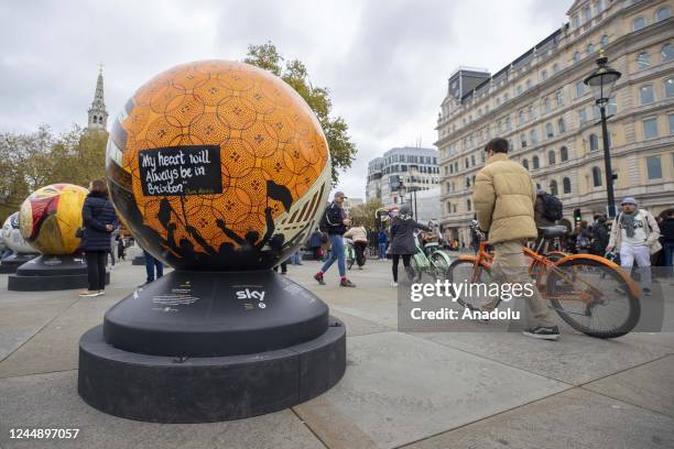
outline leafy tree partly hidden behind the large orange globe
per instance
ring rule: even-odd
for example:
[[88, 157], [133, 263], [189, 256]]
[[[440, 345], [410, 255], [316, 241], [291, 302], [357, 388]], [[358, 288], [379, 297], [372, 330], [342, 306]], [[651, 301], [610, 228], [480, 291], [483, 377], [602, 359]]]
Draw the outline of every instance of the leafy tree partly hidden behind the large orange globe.
[[357, 149], [350, 140], [349, 127], [344, 119], [330, 116], [333, 102], [329, 89], [314, 87], [309, 81], [306, 66], [300, 59], [287, 61], [285, 66], [282, 66], [284, 58], [271, 42], [262, 45], [250, 45], [243, 62], [281, 77], [312, 108], [328, 143], [333, 164], [333, 185], [336, 185], [339, 179], [339, 171], [351, 166]]

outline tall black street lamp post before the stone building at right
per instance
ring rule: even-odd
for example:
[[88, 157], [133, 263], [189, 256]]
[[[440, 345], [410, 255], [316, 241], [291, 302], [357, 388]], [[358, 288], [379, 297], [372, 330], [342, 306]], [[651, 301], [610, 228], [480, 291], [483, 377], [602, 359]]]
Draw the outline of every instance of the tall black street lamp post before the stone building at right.
[[607, 215], [616, 217], [616, 198], [613, 196], [613, 171], [611, 168], [611, 153], [609, 149], [608, 128], [606, 125], [606, 106], [611, 98], [611, 91], [616, 81], [620, 78], [620, 72], [610, 67], [604, 51], [599, 53], [597, 68], [585, 78], [584, 83], [593, 89], [595, 102], [601, 113], [601, 139], [604, 141], [604, 164], [606, 171]]

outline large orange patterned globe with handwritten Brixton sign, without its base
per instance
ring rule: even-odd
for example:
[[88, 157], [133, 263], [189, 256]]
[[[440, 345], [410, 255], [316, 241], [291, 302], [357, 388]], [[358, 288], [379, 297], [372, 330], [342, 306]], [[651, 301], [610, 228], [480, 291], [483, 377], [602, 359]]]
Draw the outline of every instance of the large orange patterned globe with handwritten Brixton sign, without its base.
[[141, 247], [182, 270], [282, 262], [315, 228], [330, 173], [302, 97], [237, 62], [160, 74], [127, 102], [108, 140], [118, 212]]

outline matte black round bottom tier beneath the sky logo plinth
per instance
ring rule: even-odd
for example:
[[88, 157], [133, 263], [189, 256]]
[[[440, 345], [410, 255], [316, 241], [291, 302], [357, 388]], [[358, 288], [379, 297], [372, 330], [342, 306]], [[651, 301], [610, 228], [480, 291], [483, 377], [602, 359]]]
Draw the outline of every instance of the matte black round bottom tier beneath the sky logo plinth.
[[213, 423], [278, 412], [333, 387], [346, 369], [346, 329], [336, 318], [311, 341], [275, 351], [172, 358], [122, 351], [102, 326], [79, 340], [77, 388], [90, 406], [151, 423]]

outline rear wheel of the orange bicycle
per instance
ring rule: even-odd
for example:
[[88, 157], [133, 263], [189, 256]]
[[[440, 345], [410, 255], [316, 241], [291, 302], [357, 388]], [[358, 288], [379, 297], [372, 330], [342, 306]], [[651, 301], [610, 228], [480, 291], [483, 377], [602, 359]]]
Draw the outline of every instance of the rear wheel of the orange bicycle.
[[639, 322], [641, 305], [617, 269], [579, 258], [551, 270], [545, 297], [574, 329], [597, 338], [621, 337]]

